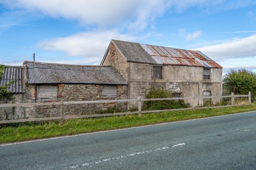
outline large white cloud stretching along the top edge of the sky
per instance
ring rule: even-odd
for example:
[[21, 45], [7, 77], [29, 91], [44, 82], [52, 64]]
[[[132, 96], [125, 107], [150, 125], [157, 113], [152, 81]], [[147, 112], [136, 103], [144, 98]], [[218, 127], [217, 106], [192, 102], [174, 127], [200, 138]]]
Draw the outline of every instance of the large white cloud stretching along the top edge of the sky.
[[9, 0], [9, 8], [42, 12], [50, 17], [79, 20], [99, 27], [126, 25], [141, 30], [169, 7], [168, 0]]

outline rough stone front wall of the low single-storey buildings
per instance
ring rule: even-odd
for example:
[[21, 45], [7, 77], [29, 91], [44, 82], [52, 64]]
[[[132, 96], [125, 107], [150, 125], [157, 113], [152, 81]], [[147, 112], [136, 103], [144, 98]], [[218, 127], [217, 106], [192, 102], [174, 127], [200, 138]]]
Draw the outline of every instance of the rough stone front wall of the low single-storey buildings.
[[[103, 85], [58, 85], [58, 98], [37, 100], [37, 85], [26, 85], [25, 93], [15, 94], [13, 100], [1, 100], [0, 103], [21, 102], [60, 102], [63, 101], [95, 101], [127, 99], [127, 85], [117, 85], [116, 98], [102, 96]], [[69, 104], [62, 106], [63, 115], [96, 114], [101, 110], [118, 106], [126, 109], [127, 103]], [[40, 105], [31, 107], [5, 107], [0, 109], [0, 120], [45, 118], [60, 116], [60, 105]]]

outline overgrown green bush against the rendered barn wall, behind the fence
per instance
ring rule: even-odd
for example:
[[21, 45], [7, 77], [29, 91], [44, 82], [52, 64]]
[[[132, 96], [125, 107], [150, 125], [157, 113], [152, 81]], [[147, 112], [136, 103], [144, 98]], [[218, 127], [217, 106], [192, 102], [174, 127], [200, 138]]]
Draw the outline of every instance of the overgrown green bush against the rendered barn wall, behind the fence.
[[[173, 94], [169, 90], [163, 88], [150, 88], [146, 91], [146, 99], [150, 98], [172, 98]], [[162, 109], [178, 109], [189, 107], [188, 103], [183, 100], [168, 100], [168, 101], [145, 101], [143, 110], [162, 110]]]

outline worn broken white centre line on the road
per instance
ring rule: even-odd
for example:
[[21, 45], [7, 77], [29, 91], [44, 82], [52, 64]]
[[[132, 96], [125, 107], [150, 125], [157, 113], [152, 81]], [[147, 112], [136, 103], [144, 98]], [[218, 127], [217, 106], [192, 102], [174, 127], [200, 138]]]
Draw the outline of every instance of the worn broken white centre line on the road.
[[[172, 147], [181, 146], [181, 145], [185, 145], [185, 144], [184, 144], [184, 143], [180, 143], [180, 144], [177, 144], [177, 145], [173, 145]], [[74, 166], [71, 166], [71, 167], [69, 167], [69, 168], [62, 169], [62, 170], [76, 169], [76, 168], [79, 168], [79, 167], [87, 167], [87, 166], [90, 166], [90, 167], [91, 167], [92, 165], [99, 164], [99, 163], [103, 163], [103, 162], [108, 162], [108, 161], [111, 161], [111, 160], [117, 160], [117, 159], [126, 158], [126, 157], [130, 157], [130, 156], [135, 156], [135, 155], [139, 155], [139, 154], [151, 153], [151, 152], [166, 150], [166, 149], [169, 149], [169, 148], [170, 148], [170, 147], [165, 146], [165, 147], [157, 148], [157, 149], [153, 149], [153, 150], [148, 150], [148, 151], [143, 151], [143, 152], [138, 152], [138, 153], [130, 153], [130, 154], [127, 154], [127, 155], [122, 155], [122, 156], [118, 156], [118, 157], [107, 158], [107, 159], [98, 160], [98, 161], [94, 161], [94, 162], [90, 162], [90, 163], [84, 163], [84, 164], [81, 164], [81, 165], [74, 165]]]

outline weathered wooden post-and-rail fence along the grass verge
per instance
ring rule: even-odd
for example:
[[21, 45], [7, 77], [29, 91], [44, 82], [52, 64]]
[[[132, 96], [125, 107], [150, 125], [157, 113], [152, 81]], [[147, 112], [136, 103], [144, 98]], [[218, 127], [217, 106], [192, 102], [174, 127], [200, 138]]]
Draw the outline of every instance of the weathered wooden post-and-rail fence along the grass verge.
[[[248, 97], [248, 104], [235, 104], [235, 98], [238, 97]], [[196, 107], [196, 99], [214, 99], [214, 98], [231, 98], [230, 105], [220, 105], [220, 106], [207, 106], [207, 107]], [[179, 109], [164, 109], [164, 110], [142, 110], [142, 102], [144, 101], [165, 101], [165, 100], [184, 100], [184, 99], [192, 99], [193, 104], [192, 107], [189, 108], [179, 108]], [[91, 103], [110, 103], [110, 102], [138, 102], [138, 111], [134, 112], [121, 112], [121, 113], [106, 113], [106, 114], [93, 114], [93, 115], [79, 115], [79, 116], [63, 116], [62, 115], [62, 106], [68, 104], [91, 104]], [[248, 95], [234, 95], [232, 93], [229, 96], [209, 96], [209, 97], [180, 97], [180, 98], [156, 98], [156, 99], [142, 99], [138, 97], [138, 99], [127, 99], [127, 100], [109, 100], [109, 101], [75, 101], [75, 102], [38, 102], [38, 103], [13, 103], [13, 104], [0, 104], [0, 107], [31, 107], [31, 106], [39, 106], [39, 105], [60, 105], [60, 116], [58, 117], [48, 117], [48, 118], [31, 118], [31, 119], [14, 119], [14, 120], [1, 120], [0, 124], [3, 123], [18, 123], [18, 122], [28, 122], [28, 121], [43, 121], [43, 120], [62, 120], [64, 119], [76, 119], [76, 118], [93, 118], [93, 117], [106, 117], [106, 116], [118, 116], [118, 115], [131, 115], [138, 114], [141, 116], [142, 113], [157, 113], [157, 112], [168, 112], [168, 111], [178, 111], [178, 110], [193, 110], [193, 109], [207, 109], [207, 108], [220, 108], [220, 107], [231, 107], [231, 106], [241, 106], [241, 105], [251, 105], [251, 92]]]

